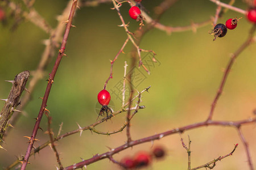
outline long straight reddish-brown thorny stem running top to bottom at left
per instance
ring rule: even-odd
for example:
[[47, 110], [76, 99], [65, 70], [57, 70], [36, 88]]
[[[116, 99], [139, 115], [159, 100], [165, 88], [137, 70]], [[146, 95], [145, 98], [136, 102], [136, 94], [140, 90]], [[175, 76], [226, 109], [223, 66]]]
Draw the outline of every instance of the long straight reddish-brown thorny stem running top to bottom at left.
[[42, 105], [41, 105], [38, 117], [36, 118], [36, 123], [35, 123], [34, 129], [32, 131], [32, 135], [31, 135], [31, 138], [30, 138], [30, 141], [29, 141], [29, 144], [28, 144], [26, 155], [25, 155], [24, 160], [22, 162], [21, 170], [26, 169], [26, 166], [27, 166], [27, 163], [28, 163], [28, 158], [30, 156], [32, 146], [35, 142], [35, 137], [36, 137], [36, 133], [37, 133], [38, 128], [39, 128], [40, 121], [43, 117], [44, 111], [46, 110], [47, 100], [48, 100], [49, 92], [51, 91], [51, 87], [52, 87], [52, 84], [53, 84], [53, 79], [56, 75], [56, 72], [57, 72], [57, 69], [59, 67], [61, 58], [64, 56], [65, 46], [67, 44], [69, 31], [72, 27], [72, 20], [73, 20], [74, 14], [75, 14], [76, 6], [77, 6], [77, 0], [73, 0], [71, 12], [70, 12], [70, 15], [69, 15], [69, 18], [68, 18], [67, 27], [65, 29], [65, 33], [64, 33], [64, 37], [63, 37], [63, 42], [61, 44], [59, 54], [58, 54], [58, 57], [56, 59], [55, 65], [53, 66], [52, 72], [51, 72], [51, 74], [49, 74], [49, 79], [48, 79], [46, 92], [45, 92], [44, 97], [43, 97], [43, 101], [42, 101]]

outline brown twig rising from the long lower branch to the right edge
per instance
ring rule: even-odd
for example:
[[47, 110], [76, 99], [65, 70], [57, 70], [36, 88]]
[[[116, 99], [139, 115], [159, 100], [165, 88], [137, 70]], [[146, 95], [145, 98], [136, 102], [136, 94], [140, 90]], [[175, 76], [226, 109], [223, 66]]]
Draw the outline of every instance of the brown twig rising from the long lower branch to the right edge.
[[224, 75], [223, 75], [223, 78], [221, 80], [221, 83], [220, 83], [220, 87], [218, 88], [218, 91], [217, 91], [217, 94], [216, 96], [214, 97], [214, 100], [212, 102], [212, 106], [210, 108], [210, 113], [209, 113], [209, 116], [207, 118], [207, 121], [210, 121], [212, 120], [212, 116], [213, 116], [213, 112], [214, 112], [214, 109], [216, 107], [216, 104], [217, 104], [217, 101], [218, 101], [218, 98], [220, 97], [220, 95], [222, 94], [222, 91], [223, 91], [223, 88], [225, 86], [225, 82], [228, 78], [228, 75], [229, 75], [229, 72], [230, 72], [230, 69], [231, 67], [233, 66], [233, 63], [234, 61], [236, 60], [236, 58], [238, 57], [238, 55], [243, 51], [245, 50], [245, 48], [247, 46], [249, 46], [251, 44], [251, 42], [253, 42], [253, 33], [255, 32], [255, 29], [256, 29], [256, 25], [254, 24], [253, 27], [251, 28], [250, 32], [249, 32], [249, 36], [247, 38], [247, 40], [245, 42], [243, 42], [243, 44], [240, 46], [240, 48], [238, 48], [236, 50], [236, 52], [234, 52], [229, 60], [229, 63], [228, 63], [228, 66], [226, 66], [226, 70], [224, 71]]

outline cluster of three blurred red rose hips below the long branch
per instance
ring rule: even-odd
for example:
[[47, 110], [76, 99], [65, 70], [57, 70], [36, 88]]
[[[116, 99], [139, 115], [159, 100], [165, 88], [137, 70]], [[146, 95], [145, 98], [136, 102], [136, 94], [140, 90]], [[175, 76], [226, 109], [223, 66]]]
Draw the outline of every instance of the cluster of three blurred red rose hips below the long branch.
[[163, 147], [155, 147], [152, 153], [148, 153], [146, 151], [140, 151], [138, 152], [134, 158], [131, 158], [129, 156], [123, 158], [121, 160], [122, 167], [125, 169], [137, 169], [146, 167], [152, 162], [152, 158], [163, 158], [165, 155], [165, 151]]

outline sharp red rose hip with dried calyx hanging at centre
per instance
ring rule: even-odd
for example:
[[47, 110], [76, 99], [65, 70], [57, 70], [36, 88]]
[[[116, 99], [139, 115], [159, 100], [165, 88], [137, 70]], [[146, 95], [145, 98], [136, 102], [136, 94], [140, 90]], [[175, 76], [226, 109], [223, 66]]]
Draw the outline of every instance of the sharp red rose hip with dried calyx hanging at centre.
[[102, 108], [100, 113], [98, 114], [98, 117], [104, 114], [104, 112], [106, 112], [107, 116], [109, 111], [112, 113], [111, 109], [108, 107], [110, 99], [111, 99], [110, 94], [105, 89], [98, 93], [98, 103], [102, 105]]

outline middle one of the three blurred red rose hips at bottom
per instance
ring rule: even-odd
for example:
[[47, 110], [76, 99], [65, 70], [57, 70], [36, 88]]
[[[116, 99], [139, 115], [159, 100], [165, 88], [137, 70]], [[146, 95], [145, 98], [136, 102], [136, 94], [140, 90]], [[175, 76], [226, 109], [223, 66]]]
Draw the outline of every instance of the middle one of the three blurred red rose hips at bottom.
[[151, 162], [151, 155], [147, 152], [138, 152], [137, 155], [135, 155], [134, 163], [135, 167], [146, 167]]

